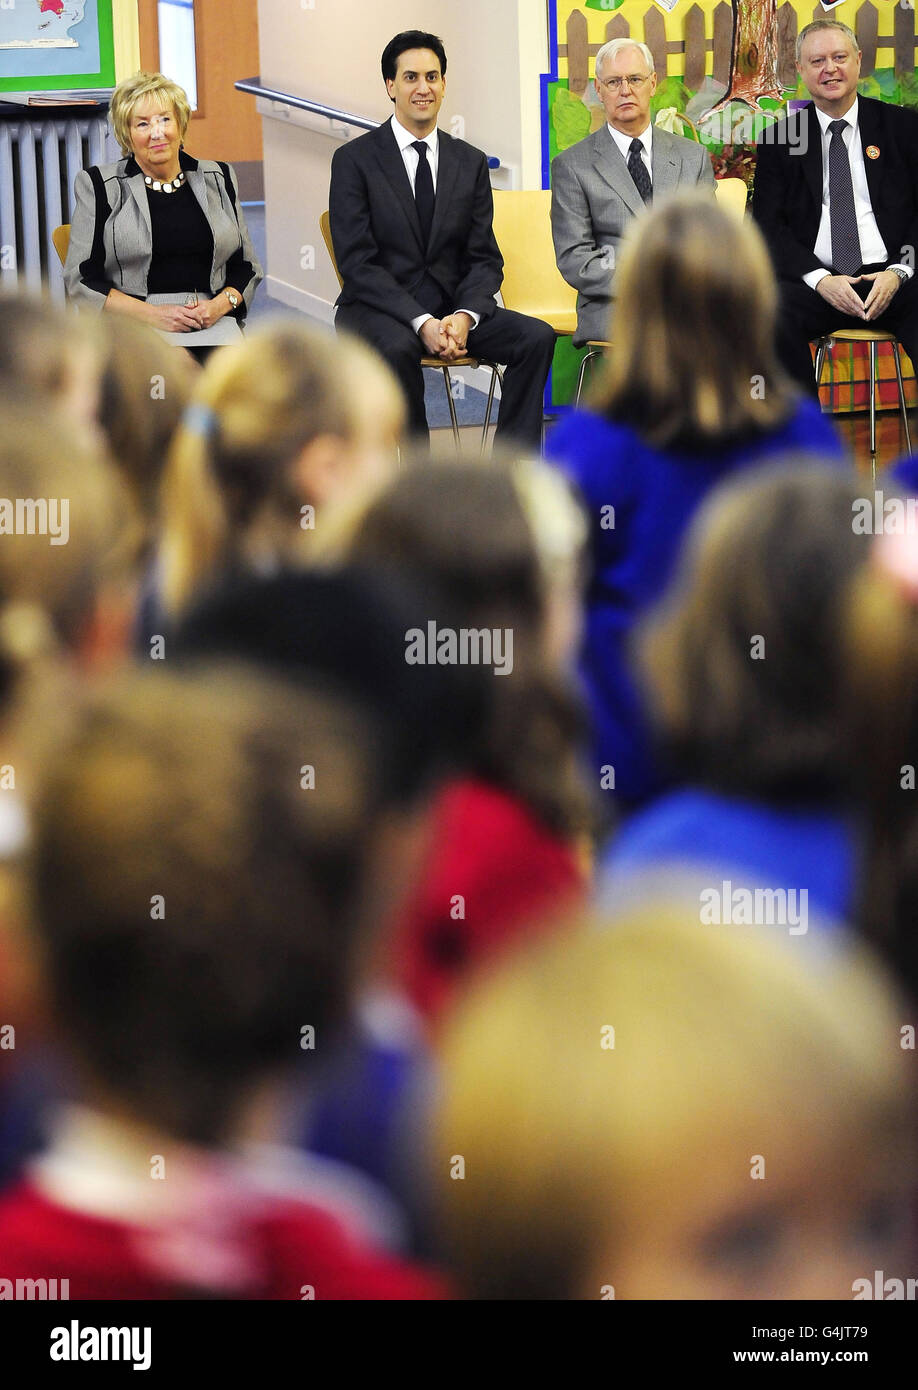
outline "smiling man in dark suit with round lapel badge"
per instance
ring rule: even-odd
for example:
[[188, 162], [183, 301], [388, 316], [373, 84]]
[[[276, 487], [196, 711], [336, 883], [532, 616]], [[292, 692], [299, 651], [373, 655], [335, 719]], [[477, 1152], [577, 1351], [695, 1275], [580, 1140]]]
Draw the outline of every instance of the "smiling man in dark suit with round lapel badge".
[[858, 97], [861, 53], [836, 19], [800, 31], [797, 71], [812, 104], [758, 142], [752, 213], [779, 279], [779, 357], [814, 393], [810, 342], [835, 328], [918, 353], [918, 115]]

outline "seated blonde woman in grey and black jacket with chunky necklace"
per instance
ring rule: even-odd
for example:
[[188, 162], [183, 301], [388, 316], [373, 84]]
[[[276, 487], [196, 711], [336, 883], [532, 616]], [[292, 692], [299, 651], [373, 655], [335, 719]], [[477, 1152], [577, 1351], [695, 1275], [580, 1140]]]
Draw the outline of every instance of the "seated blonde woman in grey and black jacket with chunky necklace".
[[124, 158], [76, 175], [64, 281], [81, 307], [195, 349], [238, 335], [263, 272], [232, 168], [185, 153], [189, 117], [160, 72], [118, 83], [110, 120]]

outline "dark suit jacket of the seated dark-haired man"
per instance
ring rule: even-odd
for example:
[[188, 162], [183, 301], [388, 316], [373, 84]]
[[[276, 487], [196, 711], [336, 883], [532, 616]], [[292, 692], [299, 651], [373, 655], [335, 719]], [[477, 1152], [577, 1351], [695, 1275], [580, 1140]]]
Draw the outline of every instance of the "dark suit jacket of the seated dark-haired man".
[[389, 121], [335, 150], [328, 195], [339, 304], [369, 304], [410, 324], [431, 313], [416, 296], [437, 282], [451, 309], [494, 310], [504, 260], [494, 239], [488, 164], [474, 146], [440, 131], [437, 202], [421, 245], [414, 195]]

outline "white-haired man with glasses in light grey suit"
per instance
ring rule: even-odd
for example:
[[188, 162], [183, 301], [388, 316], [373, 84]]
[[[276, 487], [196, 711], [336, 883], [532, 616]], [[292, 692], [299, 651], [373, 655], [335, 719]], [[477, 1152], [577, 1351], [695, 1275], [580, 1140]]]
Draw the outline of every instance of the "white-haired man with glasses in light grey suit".
[[676, 189], [709, 188], [704, 145], [651, 125], [654, 57], [644, 43], [612, 39], [597, 53], [595, 90], [606, 124], [552, 160], [551, 229], [558, 270], [577, 291], [574, 346], [609, 332], [612, 277], [630, 220]]

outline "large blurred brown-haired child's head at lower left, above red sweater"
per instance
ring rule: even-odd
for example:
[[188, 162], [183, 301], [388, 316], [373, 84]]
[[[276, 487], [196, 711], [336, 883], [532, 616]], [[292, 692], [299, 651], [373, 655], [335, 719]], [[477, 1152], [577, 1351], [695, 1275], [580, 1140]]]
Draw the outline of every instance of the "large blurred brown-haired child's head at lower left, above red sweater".
[[209, 667], [88, 702], [39, 798], [33, 878], [51, 1016], [90, 1099], [218, 1144], [305, 1029], [328, 1056], [378, 799], [342, 701]]

